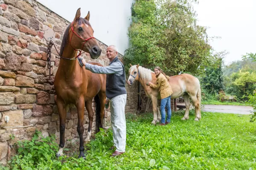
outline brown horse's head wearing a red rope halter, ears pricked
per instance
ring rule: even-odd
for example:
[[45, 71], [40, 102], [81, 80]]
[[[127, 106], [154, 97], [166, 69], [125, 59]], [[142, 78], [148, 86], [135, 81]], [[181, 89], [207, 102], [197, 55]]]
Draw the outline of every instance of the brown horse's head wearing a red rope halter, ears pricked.
[[[89, 23], [90, 12], [85, 18], [80, 17], [80, 8], [76, 11], [76, 17], [71, 23], [69, 30], [70, 45], [75, 49], [80, 49], [90, 54], [92, 59], [97, 59], [102, 49], [93, 37], [93, 28]], [[72, 36], [72, 37], [71, 37]]]

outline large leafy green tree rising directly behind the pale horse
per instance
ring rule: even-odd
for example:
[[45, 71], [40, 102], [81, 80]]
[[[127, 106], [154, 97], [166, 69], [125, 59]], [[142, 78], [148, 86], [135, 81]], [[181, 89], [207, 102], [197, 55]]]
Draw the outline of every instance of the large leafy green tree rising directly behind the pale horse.
[[196, 0], [137, 0], [128, 29], [131, 48], [125, 62], [169, 74], [199, 74], [212, 64], [206, 28], [196, 25]]

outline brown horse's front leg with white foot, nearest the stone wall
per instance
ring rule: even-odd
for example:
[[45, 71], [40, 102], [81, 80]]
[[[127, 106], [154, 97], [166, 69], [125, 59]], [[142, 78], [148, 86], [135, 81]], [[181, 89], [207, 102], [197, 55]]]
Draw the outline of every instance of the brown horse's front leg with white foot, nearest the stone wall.
[[67, 116], [67, 105], [64, 104], [64, 101], [57, 97], [56, 99], [58, 113], [60, 116], [60, 145], [58, 153], [56, 153], [57, 158], [63, 155], [63, 150], [65, 147], [65, 125], [66, 125], [66, 116]]

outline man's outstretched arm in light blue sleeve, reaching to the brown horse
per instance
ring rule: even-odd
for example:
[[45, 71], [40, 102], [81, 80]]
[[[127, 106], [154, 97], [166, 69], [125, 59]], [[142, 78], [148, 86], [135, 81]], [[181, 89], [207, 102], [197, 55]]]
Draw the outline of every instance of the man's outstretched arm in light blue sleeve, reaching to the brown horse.
[[119, 62], [114, 62], [111, 65], [105, 67], [86, 63], [85, 69], [97, 74], [115, 74], [123, 71], [122, 65]]

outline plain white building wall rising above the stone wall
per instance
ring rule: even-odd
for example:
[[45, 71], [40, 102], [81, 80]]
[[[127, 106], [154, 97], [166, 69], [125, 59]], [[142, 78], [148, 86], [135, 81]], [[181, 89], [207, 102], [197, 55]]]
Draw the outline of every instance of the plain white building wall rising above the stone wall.
[[94, 37], [106, 45], [116, 45], [124, 54], [129, 47], [127, 36], [131, 24], [133, 0], [37, 0], [56, 14], [72, 22], [78, 8], [81, 17], [90, 11], [90, 24]]

